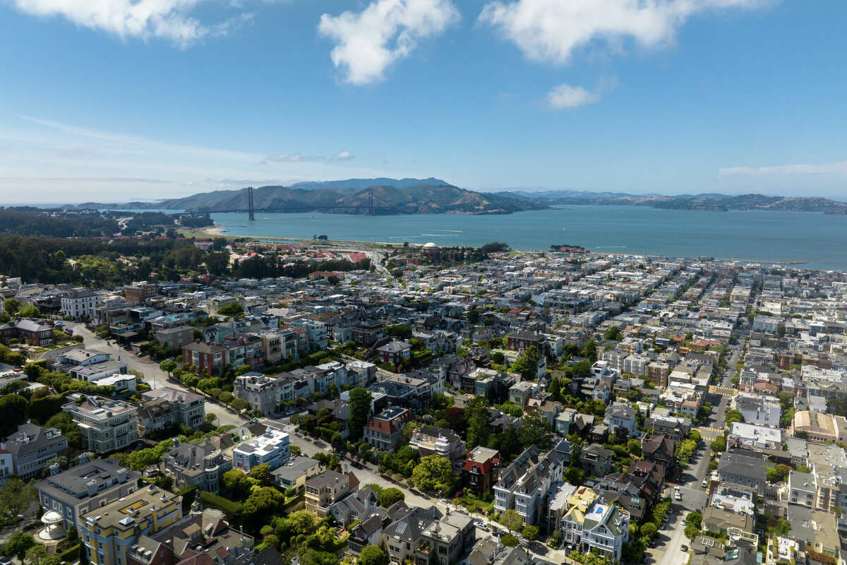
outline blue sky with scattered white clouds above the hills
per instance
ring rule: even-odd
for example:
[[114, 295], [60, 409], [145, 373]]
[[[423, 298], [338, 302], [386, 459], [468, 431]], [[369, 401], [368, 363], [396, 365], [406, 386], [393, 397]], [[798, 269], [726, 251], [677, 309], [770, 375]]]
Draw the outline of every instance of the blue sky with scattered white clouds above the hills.
[[0, 0], [0, 204], [374, 176], [847, 199], [844, 0]]

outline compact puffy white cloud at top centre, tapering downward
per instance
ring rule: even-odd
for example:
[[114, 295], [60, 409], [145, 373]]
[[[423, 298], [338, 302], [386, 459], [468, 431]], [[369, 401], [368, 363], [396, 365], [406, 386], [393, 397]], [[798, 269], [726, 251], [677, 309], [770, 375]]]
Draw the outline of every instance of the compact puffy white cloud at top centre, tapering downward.
[[318, 31], [337, 43], [330, 57], [346, 68], [346, 81], [382, 80], [390, 64], [405, 58], [418, 41], [438, 36], [461, 19], [451, 0], [374, 0], [363, 11], [323, 14]]

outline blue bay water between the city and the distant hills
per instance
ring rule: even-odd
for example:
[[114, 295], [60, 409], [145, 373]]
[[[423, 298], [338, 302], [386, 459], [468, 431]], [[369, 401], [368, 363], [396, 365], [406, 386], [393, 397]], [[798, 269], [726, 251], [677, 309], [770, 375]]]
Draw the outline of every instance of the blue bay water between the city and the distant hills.
[[584, 246], [596, 252], [702, 255], [760, 263], [805, 262], [808, 269], [847, 270], [847, 216], [811, 212], [700, 212], [639, 206], [570, 206], [504, 215], [354, 216], [329, 213], [215, 213], [227, 235], [387, 241], [402, 245], [514, 249]]

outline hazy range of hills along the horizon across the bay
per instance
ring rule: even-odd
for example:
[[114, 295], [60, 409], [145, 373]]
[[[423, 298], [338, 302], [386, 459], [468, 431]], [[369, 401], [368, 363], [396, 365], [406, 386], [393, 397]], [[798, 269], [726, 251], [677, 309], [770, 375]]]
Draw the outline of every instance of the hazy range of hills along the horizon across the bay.
[[[762, 194], [730, 196], [717, 193], [628, 194], [576, 190], [480, 192], [453, 186], [445, 180], [347, 179], [297, 182], [291, 186], [260, 186], [253, 190], [256, 210], [366, 214], [373, 194], [374, 213], [513, 213], [562, 205], [649, 206], [678, 210], [781, 210], [847, 214], [847, 203], [822, 197], [775, 197]], [[190, 197], [151, 202], [102, 204], [86, 202], [70, 208], [165, 209], [189, 212], [228, 212], [249, 208], [246, 188], [211, 191]]]

